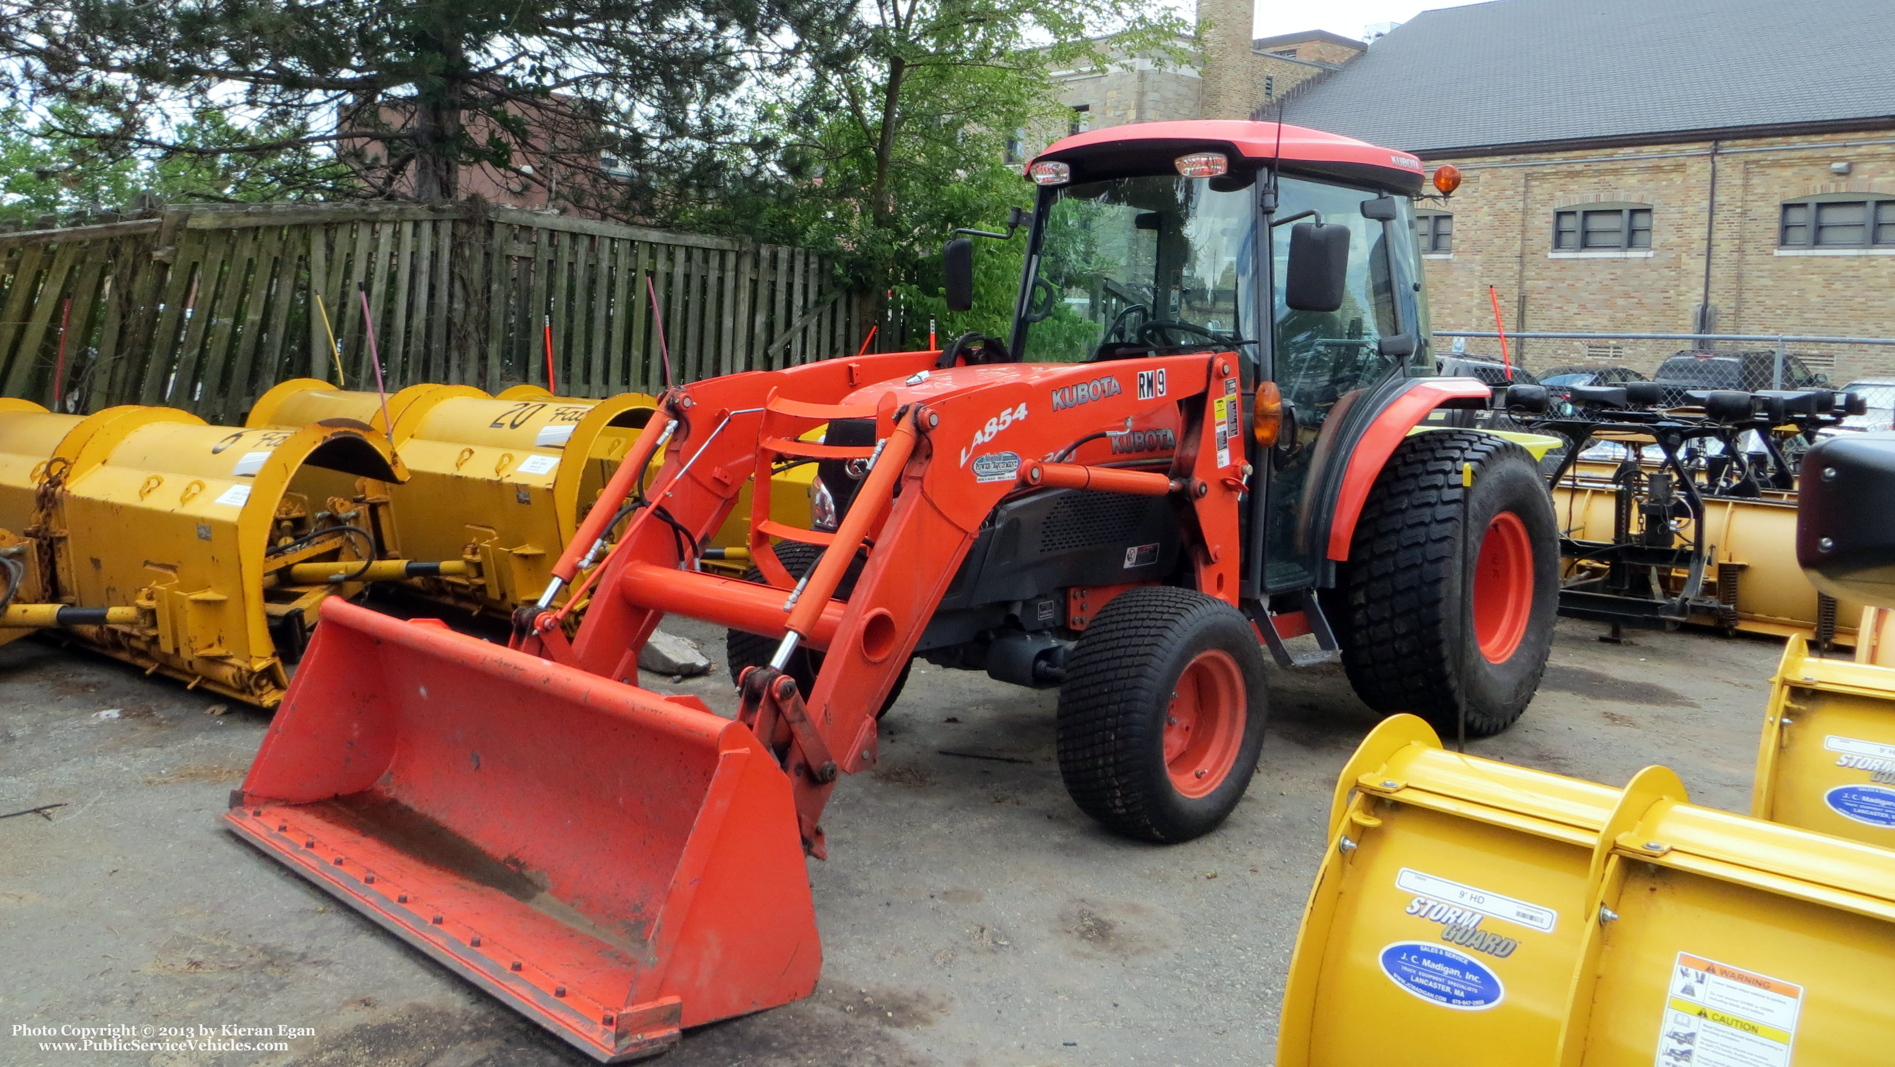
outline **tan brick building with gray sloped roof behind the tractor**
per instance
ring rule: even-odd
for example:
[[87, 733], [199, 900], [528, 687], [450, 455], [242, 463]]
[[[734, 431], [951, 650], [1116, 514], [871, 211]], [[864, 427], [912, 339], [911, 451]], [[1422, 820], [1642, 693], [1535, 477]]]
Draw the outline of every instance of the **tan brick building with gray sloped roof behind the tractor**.
[[[1895, 337], [1887, 0], [1491, 0], [1374, 47], [1253, 42], [1249, 8], [1201, 0], [1198, 114], [1281, 108], [1465, 174], [1423, 205], [1436, 328], [1491, 330], [1491, 284], [1508, 330]], [[1527, 366], [1677, 349], [1533, 341]], [[1895, 375], [1895, 349], [1795, 351]]]

